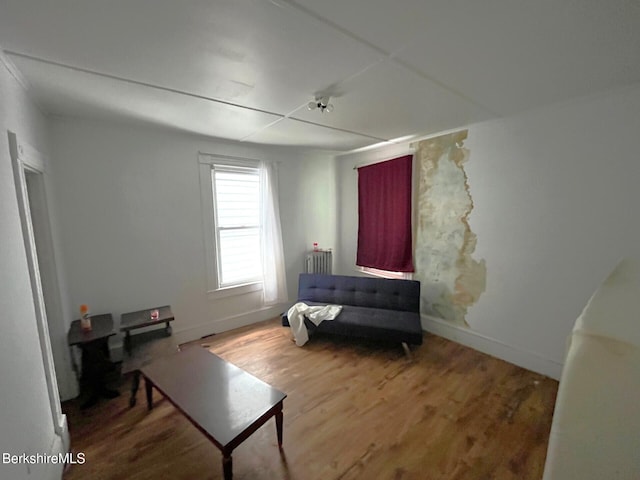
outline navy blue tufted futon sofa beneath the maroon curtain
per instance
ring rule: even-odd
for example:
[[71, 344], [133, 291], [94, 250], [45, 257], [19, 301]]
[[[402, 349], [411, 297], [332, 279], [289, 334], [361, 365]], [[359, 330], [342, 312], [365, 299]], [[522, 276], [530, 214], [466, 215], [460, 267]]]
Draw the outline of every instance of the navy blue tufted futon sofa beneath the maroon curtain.
[[[422, 344], [420, 282], [302, 273], [297, 301], [307, 305], [342, 305], [336, 319], [317, 327], [305, 319], [310, 336], [317, 331], [399, 342], [405, 348], [407, 344]], [[289, 325], [286, 312], [282, 324]]]

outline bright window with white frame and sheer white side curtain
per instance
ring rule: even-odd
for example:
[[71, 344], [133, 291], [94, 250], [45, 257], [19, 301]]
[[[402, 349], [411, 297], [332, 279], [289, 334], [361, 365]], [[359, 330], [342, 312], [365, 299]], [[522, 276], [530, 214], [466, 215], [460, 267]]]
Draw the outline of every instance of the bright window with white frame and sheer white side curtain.
[[277, 165], [205, 153], [198, 163], [207, 292], [261, 290], [265, 306], [287, 302]]

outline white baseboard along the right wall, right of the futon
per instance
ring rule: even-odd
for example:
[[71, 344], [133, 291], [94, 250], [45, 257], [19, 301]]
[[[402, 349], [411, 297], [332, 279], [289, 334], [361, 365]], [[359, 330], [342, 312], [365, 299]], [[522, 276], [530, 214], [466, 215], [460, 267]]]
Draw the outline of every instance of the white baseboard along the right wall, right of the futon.
[[474, 332], [469, 328], [454, 325], [445, 320], [421, 315], [422, 329], [461, 345], [473, 348], [479, 352], [500, 358], [519, 367], [560, 380], [562, 363], [541, 357], [527, 350], [522, 350], [495, 338]]

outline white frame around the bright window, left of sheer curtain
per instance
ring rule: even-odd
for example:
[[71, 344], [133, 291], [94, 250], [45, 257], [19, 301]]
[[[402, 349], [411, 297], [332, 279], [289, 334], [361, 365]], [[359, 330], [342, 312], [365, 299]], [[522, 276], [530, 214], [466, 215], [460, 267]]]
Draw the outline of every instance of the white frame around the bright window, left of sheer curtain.
[[242, 295], [262, 290], [262, 280], [248, 281], [239, 285], [223, 286], [220, 283], [218, 245], [219, 239], [216, 228], [216, 208], [214, 203], [213, 166], [225, 165], [237, 168], [259, 168], [260, 161], [234, 157], [230, 155], [215, 155], [200, 153], [198, 167], [200, 174], [200, 207], [202, 210], [202, 225], [205, 247], [205, 269], [207, 279], [207, 294], [210, 298], [221, 298]]

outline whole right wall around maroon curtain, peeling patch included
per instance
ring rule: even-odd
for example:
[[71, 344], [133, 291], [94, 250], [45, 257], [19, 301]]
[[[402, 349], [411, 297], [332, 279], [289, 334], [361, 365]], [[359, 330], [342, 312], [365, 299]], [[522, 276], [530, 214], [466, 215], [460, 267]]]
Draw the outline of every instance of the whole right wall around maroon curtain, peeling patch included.
[[[353, 167], [412, 153], [423, 328], [559, 379], [567, 335], [593, 291], [621, 257], [640, 254], [637, 208], [623, 208], [640, 205], [638, 112], [640, 83], [454, 130], [468, 129], [456, 135], [473, 203], [458, 183], [463, 171], [448, 158], [448, 150], [457, 150], [451, 137], [337, 157], [337, 273], [362, 275], [354, 267]], [[460, 229], [452, 233], [451, 250], [439, 238], [445, 233], [436, 218], [423, 210], [418, 225], [417, 208], [421, 176], [421, 204], [444, 213], [437, 208], [444, 199], [435, 190], [429, 197], [425, 187], [442, 190], [437, 179], [449, 168], [456, 174], [455, 196], [462, 196], [460, 209], [450, 208]], [[466, 274], [459, 276], [461, 271]]]

